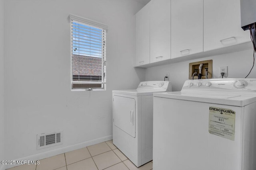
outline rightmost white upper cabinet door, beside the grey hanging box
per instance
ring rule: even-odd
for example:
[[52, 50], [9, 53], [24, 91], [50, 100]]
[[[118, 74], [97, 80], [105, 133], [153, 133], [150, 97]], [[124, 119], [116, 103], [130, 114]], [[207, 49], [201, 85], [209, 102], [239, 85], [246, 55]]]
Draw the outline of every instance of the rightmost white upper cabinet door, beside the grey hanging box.
[[204, 0], [204, 51], [250, 41], [241, 28], [240, 0]]

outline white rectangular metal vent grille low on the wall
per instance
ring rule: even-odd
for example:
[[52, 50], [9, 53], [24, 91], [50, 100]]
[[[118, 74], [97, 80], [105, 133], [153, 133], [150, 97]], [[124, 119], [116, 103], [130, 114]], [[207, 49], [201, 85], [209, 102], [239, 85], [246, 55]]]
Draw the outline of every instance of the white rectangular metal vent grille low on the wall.
[[52, 147], [62, 144], [63, 131], [57, 131], [52, 133], [42, 133], [37, 135], [37, 149], [46, 147]]

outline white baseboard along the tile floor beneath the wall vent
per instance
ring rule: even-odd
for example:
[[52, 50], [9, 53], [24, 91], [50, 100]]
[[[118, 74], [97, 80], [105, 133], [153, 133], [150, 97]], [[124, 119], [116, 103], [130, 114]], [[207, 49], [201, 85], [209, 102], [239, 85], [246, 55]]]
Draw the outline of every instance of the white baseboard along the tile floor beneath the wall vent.
[[[32, 160], [32, 161], [33, 160], [40, 160], [40, 159], [48, 158], [48, 157], [55, 156], [55, 155], [58, 155], [58, 154], [63, 154], [63, 153], [66, 153], [66, 152], [70, 152], [72, 150], [88, 147], [90, 145], [95, 145], [97, 143], [102, 143], [102, 142], [105, 142], [105, 141], [110, 141], [112, 139], [113, 139], [113, 136], [109, 135], [109, 136], [98, 138], [98, 139], [94, 139], [94, 140], [91, 140], [91, 141], [86, 141], [86, 142], [78, 143], [76, 145], [71, 145], [71, 146], [64, 147], [64, 148], [59, 148], [59, 149], [50, 150], [50, 151], [47, 151], [47, 152], [42, 152], [40, 154], [34, 154], [34, 155], [31, 155], [31, 156], [26, 156], [24, 158], [16, 159], [15, 161], [21, 161], [21, 160]], [[7, 168], [12, 168], [14, 166], [18, 166], [18, 165], [17, 164], [15, 164], [15, 165], [7, 165], [6, 167], [5, 166], [2, 166], [2, 167], [0, 166], [0, 170], [5, 170], [4, 168], [7, 169]]]

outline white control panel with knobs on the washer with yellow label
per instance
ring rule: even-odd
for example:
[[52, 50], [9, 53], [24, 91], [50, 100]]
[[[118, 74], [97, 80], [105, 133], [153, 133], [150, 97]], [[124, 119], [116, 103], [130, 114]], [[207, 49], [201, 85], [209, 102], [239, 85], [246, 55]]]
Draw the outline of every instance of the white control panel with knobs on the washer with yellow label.
[[256, 91], [256, 78], [218, 78], [186, 80], [182, 89], [187, 90], [242, 90]]

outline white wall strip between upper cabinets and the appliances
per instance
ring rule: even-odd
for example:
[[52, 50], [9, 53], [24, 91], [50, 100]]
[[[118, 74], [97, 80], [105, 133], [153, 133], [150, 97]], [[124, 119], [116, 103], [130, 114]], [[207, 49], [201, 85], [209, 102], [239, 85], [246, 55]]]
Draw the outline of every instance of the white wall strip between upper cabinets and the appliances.
[[[228, 66], [227, 78], [245, 78], [253, 64], [253, 49], [236, 53], [206, 57], [192, 61], [173, 63], [164, 66], [146, 68], [146, 81], [164, 80], [165, 72], [169, 72], [169, 80], [172, 82], [172, 91], [180, 91], [185, 80], [188, 80], [189, 63], [210, 59], [213, 60], [213, 78], [220, 78], [218, 76], [220, 66]], [[254, 66], [248, 78], [256, 78], [255, 73], [256, 66]]]

